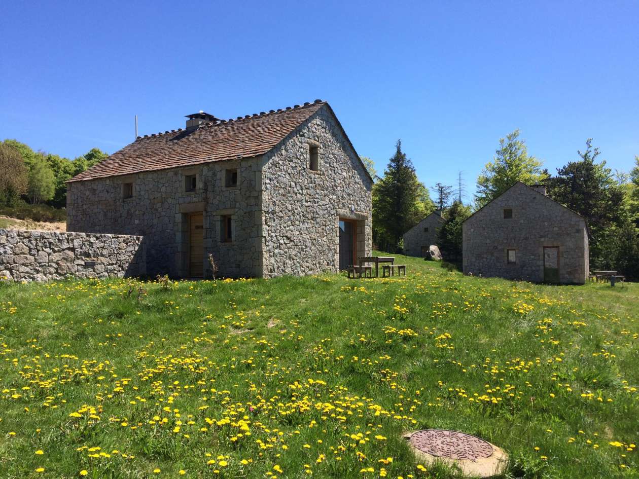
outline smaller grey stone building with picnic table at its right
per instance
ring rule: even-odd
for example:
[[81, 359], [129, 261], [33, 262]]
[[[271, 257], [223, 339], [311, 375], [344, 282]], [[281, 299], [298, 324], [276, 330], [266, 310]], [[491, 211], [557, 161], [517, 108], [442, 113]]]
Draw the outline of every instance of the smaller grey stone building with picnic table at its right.
[[583, 217], [518, 182], [463, 224], [465, 274], [584, 284], [588, 230]]

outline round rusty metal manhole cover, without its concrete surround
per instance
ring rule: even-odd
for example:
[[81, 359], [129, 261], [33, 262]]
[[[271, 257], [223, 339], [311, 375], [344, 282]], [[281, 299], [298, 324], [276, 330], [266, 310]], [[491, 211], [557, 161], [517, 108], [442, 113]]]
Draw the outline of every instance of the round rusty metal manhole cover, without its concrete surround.
[[484, 439], [455, 430], [418, 430], [411, 434], [410, 444], [421, 452], [448, 459], [475, 461], [493, 454], [493, 446]]

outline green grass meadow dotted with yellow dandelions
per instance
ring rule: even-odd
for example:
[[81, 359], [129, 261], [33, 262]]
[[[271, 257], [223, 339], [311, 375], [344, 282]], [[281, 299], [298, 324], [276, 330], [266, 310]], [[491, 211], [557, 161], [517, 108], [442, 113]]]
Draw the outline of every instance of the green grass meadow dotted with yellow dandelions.
[[639, 476], [639, 284], [405, 261], [0, 285], [0, 477], [454, 477], [401, 438], [431, 427], [501, 446], [507, 477]]

